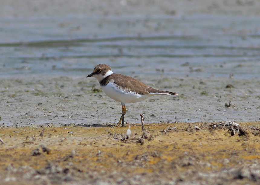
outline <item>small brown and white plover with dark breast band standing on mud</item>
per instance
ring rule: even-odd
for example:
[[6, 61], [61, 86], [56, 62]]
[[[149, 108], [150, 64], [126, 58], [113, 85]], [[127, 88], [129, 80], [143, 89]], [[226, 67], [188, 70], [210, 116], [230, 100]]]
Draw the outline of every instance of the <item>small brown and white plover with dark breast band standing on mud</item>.
[[121, 102], [122, 116], [115, 126], [125, 126], [125, 103], [141, 102], [154, 95], [178, 95], [176, 92], [161, 91], [154, 89], [145, 83], [123, 74], [113, 73], [110, 66], [102, 63], [97, 65], [88, 77], [95, 77], [107, 96], [115, 101]]

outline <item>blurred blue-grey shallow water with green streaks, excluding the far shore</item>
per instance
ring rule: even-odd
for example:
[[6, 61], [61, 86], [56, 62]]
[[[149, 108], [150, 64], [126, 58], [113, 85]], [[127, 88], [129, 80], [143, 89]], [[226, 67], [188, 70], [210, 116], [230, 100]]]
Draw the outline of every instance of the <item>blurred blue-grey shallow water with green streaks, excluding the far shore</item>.
[[[107, 63], [173, 77], [259, 77], [260, 18], [238, 16], [1, 19], [1, 76], [84, 76]], [[189, 65], [185, 65], [189, 64]], [[183, 66], [182, 66], [183, 64]], [[118, 69], [117, 69], [118, 68]]]

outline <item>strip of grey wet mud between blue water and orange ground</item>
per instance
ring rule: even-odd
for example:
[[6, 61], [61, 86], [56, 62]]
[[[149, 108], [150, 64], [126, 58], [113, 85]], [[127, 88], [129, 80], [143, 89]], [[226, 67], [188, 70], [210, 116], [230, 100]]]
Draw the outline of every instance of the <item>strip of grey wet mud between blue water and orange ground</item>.
[[[153, 96], [142, 102], [127, 103], [125, 122], [129, 124], [136, 123], [140, 113], [148, 123], [260, 119], [258, 78], [174, 78], [164, 74], [133, 77], [179, 95]], [[21, 76], [0, 81], [0, 124], [7, 126], [106, 125], [117, 123], [122, 114], [121, 104], [106, 96], [94, 78]]]

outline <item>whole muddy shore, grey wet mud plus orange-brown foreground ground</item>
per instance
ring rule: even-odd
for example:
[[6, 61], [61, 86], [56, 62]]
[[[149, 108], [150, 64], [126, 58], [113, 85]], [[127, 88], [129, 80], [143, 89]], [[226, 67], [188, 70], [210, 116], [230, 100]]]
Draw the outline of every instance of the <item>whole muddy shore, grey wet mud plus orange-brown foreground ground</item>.
[[179, 95], [127, 104], [125, 127], [96, 79], [2, 78], [2, 183], [259, 184], [257, 78], [137, 78]]

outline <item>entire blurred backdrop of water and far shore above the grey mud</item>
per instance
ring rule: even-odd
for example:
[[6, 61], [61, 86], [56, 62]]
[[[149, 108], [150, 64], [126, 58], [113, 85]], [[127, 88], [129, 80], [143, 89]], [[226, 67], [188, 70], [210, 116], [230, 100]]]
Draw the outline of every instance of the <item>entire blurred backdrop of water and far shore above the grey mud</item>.
[[257, 0], [1, 0], [2, 77], [254, 78], [259, 59]]

